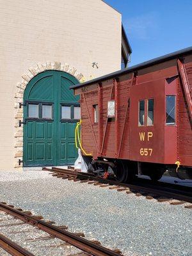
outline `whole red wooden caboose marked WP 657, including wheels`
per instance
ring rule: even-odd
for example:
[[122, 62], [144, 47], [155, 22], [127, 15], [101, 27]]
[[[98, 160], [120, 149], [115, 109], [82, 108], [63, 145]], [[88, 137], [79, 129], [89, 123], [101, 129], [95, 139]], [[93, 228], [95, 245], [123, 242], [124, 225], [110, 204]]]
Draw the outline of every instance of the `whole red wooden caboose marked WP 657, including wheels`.
[[192, 47], [71, 87], [89, 170], [192, 179]]

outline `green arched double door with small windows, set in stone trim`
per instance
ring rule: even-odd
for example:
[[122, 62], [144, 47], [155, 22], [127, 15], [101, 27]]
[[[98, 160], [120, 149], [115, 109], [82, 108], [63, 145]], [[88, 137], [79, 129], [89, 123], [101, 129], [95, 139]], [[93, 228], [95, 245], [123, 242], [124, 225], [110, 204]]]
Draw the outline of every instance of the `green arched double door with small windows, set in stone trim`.
[[69, 87], [76, 78], [45, 71], [24, 92], [24, 166], [73, 164], [77, 157], [75, 127], [80, 119], [79, 97]]

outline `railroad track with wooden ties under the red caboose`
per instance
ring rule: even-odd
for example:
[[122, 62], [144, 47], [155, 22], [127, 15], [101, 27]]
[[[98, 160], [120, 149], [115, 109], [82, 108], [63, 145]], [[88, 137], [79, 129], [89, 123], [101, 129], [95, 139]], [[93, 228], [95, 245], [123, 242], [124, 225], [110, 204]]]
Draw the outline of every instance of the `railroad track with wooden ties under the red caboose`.
[[[156, 186], [150, 184], [149, 187], [136, 184], [123, 184], [116, 180], [107, 180], [95, 177], [91, 173], [77, 172], [72, 168], [43, 168], [42, 170], [49, 171], [52, 176], [73, 180], [74, 182], [88, 182], [101, 188], [109, 187], [117, 191], [125, 191], [127, 194], [134, 193], [136, 196], [145, 196], [148, 200], [156, 199], [157, 202], [169, 202], [171, 205], [184, 204], [185, 208], [192, 209], [192, 193], [190, 191], [180, 191], [172, 185], [170, 188], [165, 186]], [[188, 204], [186, 204], [188, 203]]]

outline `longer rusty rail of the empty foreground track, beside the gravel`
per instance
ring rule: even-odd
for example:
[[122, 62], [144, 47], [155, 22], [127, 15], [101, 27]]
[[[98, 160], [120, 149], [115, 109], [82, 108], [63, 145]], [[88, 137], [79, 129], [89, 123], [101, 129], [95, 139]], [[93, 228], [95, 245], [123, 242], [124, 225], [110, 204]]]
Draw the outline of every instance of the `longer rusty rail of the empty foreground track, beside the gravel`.
[[119, 253], [113, 252], [113, 250], [109, 250], [108, 248], [100, 246], [99, 244], [88, 241], [82, 237], [77, 236], [76, 234], [68, 232], [67, 230], [63, 230], [60, 227], [56, 227], [50, 223], [47, 223], [46, 221], [38, 220], [38, 218], [35, 218], [35, 216], [26, 214], [22, 211], [19, 211], [18, 209], [14, 209], [13, 207], [6, 205], [5, 203], [0, 203], [0, 210], [7, 212], [8, 214], [14, 216], [15, 218], [18, 218], [19, 220], [24, 221], [25, 223], [34, 225], [41, 230], [44, 230], [48, 234], [57, 237], [65, 241], [66, 243], [69, 243], [72, 246], [79, 248], [80, 250], [83, 250], [84, 252], [90, 253], [95, 256], [120, 255]]

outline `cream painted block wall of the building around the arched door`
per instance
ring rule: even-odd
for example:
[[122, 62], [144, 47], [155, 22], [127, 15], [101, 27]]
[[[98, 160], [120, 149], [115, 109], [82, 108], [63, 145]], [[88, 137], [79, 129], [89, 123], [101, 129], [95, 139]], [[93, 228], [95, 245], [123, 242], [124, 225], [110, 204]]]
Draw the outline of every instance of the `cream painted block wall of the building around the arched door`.
[[120, 69], [121, 15], [100, 0], [0, 0], [0, 29], [0, 170], [12, 170], [22, 74], [54, 61], [86, 79]]

